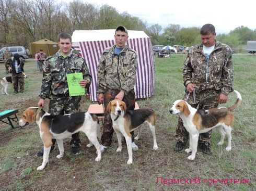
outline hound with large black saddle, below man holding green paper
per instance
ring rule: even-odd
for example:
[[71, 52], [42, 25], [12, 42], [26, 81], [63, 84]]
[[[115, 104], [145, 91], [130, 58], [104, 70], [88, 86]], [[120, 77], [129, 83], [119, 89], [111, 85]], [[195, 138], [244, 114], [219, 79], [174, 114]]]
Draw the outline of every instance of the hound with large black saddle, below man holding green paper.
[[39, 126], [44, 149], [43, 163], [37, 170], [43, 170], [49, 161], [52, 138], [57, 141], [60, 154], [56, 157], [60, 159], [64, 155], [63, 139], [80, 131], [84, 132], [90, 141], [87, 147], [91, 147], [92, 144], [96, 147], [98, 156], [95, 161], [100, 161], [100, 144], [97, 140], [97, 136], [100, 137], [100, 130], [96, 114], [78, 112], [54, 116], [41, 107], [30, 107], [22, 113], [18, 124], [22, 127], [34, 121]]

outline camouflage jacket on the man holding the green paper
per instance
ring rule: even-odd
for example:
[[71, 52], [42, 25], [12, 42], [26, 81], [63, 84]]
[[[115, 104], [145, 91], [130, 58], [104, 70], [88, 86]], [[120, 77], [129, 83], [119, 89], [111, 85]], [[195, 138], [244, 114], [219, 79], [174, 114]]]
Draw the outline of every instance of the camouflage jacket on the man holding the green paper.
[[69, 96], [67, 77], [68, 73], [82, 72], [85, 80], [88, 81], [86, 88], [91, 82], [91, 75], [88, 71], [84, 58], [71, 53], [64, 58], [60, 50], [54, 56], [48, 57], [43, 62], [43, 79], [39, 97], [51, 98], [53, 96]]

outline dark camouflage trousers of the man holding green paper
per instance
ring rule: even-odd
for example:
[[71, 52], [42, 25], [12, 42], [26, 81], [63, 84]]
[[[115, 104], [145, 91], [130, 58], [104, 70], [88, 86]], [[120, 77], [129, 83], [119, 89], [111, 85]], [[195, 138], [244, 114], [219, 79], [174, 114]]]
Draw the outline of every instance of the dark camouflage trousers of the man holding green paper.
[[[79, 112], [81, 96], [51, 96], [49, 103], [49, 113], [57, 114], [69, 114]], [[56, 139], [52, 139], [54, 145]], [[79, 138], [79, 132], [72, 135], [70, 142], [72, 147], [80, 147], [81, 141]]]

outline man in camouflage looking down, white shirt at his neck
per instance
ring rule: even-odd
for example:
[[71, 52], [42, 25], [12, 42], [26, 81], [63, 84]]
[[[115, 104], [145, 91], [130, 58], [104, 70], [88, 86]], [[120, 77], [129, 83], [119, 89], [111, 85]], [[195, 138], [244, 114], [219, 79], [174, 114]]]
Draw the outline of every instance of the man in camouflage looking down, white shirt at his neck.
[[[216, 33], [212, 24], [205, 24], [200, 34], [202, 44], [191, 48], [184, 62], [183, 83], [186, 94], [183, 99], [187, 100], [188, 97], [188, 103], [194, 108], [210, 109], [226, 103], [228, 93], [233, 91], [232, 54], [228, 45], [215, 40]], [[181, 118], [178, 119], [175, 136], [177, 144], [174, 150], [180, 151], [189, 138]], [[212, 155], [210, 138], [211, 131], [199, 136], [199, 145], [207, 155]]]

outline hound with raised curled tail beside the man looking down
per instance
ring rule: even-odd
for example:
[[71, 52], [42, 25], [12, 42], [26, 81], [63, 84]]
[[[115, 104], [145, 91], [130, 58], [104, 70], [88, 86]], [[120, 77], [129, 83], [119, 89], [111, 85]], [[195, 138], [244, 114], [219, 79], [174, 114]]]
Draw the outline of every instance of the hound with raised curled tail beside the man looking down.
[[[219, 107], [208, 110], [195, 109], [184, 100], [176, 100], [170, 108], [171, 114], [178, 114], [183, 121], [185, 129], [189, 132], [189, 148], [185, 152], [192, 154], [188, 157], [189, 160], [194, 160], [197, 151], [197, 142], [200, 133], [205, 133], [213, 128], [217, 128], [221, 138], [218, 145], [224, 142], [225, 134], [228, 137], [228, 145], [226, 151], [231, 150], [231, 130], [234, 124], [234, 114], [231, 113], [236, 107], [241, 104], [241, 94], [234, 90], [237, 95], [237, 100], [234, 105], [229, 108]], [[224, 130], [225, 129], [225, 132]]]

